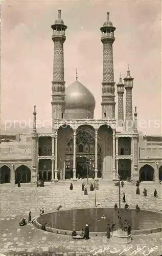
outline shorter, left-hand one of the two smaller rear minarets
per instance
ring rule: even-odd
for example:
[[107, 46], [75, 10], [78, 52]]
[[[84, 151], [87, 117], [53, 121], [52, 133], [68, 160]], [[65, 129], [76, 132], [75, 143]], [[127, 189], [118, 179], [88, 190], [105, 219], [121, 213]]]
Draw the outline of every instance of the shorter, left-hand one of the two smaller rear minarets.
[[123, 104], [124, 83], [122, 83], [121, 74], [120, 74], [119, 83], [117, 84], [117, 93], [118, 93], [118, 126], [122, 127], [124, 124], [124, 104]]

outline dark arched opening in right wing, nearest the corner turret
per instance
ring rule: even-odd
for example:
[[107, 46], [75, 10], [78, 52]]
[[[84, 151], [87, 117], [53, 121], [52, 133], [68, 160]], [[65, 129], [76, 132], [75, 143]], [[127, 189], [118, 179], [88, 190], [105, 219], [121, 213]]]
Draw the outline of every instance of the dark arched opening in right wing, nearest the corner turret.
[[145, 164], [140, 169], [140, 182], [153, 181], [153, 180], [154, 180], [154, 168], [149, 164]]

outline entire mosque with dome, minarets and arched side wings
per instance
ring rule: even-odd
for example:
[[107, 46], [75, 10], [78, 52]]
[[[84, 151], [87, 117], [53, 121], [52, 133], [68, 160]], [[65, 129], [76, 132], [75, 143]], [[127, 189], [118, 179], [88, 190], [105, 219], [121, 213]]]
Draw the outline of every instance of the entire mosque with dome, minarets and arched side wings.
[[1, 136], [1, 184], [15, 184], [15, 180], [20, 180], [35, 186], [38, 179], [79, 181], [87, 176], [116, 181], [119, 175], [127, 181], [162, 180], [162, 137], [143, 136], [138, 132], [136, 107], [132, 109], [134, 78], [129, 68], [123, 82], [121, 77], [119, 83], [114, 82], [112, 46], [116, 28], [110, 22], [109, 13], [100, 28], [103, 44], [101, 119], [95, 119], [94, 95], [79, 82], [77, 71], [76, 81], [65, 88], [63, 44], [67, 26], [61, 10], [51, 28], [54, 42], [51, 133], [38, 133], [34, 106], [30, 137], [14, 134], [4, 139], [5, 135]]

